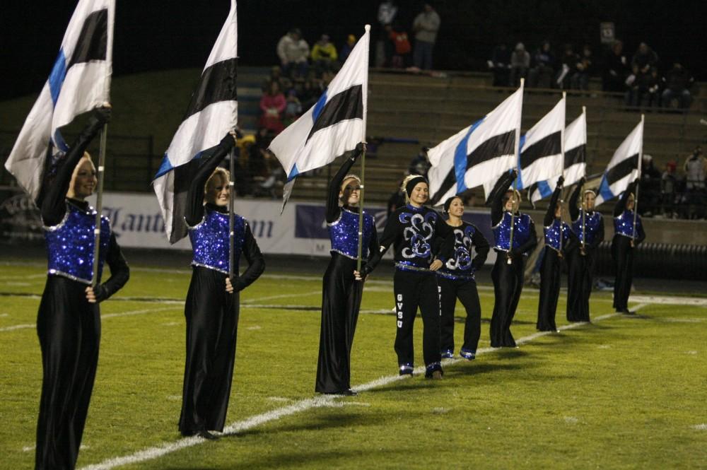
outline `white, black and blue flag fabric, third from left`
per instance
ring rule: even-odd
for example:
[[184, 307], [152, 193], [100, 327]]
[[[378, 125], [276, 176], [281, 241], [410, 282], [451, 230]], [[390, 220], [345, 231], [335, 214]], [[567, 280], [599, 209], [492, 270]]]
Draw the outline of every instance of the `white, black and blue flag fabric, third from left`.
[[269, 150], [287, 175], [283, 207], [298, 175], [331, 163], [365, 139], [369, 29], [366, 25], [366, 33], [316, 104], [270, 143]]

